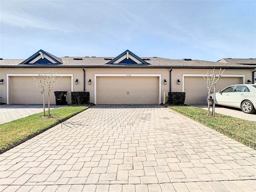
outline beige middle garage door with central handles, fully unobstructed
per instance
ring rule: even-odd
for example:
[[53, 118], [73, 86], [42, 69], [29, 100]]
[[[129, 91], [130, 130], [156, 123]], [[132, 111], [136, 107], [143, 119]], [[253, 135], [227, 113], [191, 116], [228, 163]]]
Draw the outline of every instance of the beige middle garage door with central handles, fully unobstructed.
[[97, 104], [158, 104], [159, 77], [98, 77]]

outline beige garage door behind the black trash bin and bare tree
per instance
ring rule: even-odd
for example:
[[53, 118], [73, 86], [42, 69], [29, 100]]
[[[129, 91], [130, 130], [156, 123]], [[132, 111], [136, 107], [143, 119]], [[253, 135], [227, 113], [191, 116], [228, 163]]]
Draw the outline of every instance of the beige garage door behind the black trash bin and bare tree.
[[[59, 77], [56, 77], [56, 80]], [[11, 78], [11, 102], [12, 104], [42, 104], [42, 94], [41, 89], [36, 86], [35, 81], [31, 76], [29, 77], [20, 77], [14, 76]], [[39, 82], [39, 78], [37, 77]], [[45, 89], [45, 102], [48, 103], [48, 90], [47, 83], [44, 86]], [[68, 91], [66, 100], [68, 103], [71, 102], [71, 77], [62, 77], [60, 78], [56, 85], [52, 88], [51, 91], [51, 104], [56, 104], [54, 91]]]

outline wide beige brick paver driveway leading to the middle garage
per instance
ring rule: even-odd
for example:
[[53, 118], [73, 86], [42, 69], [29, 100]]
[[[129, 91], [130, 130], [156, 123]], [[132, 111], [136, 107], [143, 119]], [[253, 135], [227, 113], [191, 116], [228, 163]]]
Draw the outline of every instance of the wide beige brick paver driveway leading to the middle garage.
[[0, 158], [8, 192], [256, 190], [256, 150], [159, 105], [94, 106]]

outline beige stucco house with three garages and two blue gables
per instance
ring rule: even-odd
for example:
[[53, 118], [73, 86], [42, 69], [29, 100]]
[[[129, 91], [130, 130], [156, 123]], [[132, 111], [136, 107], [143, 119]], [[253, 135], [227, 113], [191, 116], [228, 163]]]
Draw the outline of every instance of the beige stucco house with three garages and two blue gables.
[[95, 104], [160, 104], [164, 92], [186, 92], [186, 104], [206, 103], [202, 74], [213, 68], [217, 73], [225, 69], [217, 90], [254, 82], [256, 66], [250, 64], [139, 57], [129, 50], [116, 57], [56, 57], [39, 50], [25, 60], [0, 59], [0, 96], [7, 104], [41, 104], [41, 90], [32, 77], [53, 70], [61, 78], [52, 90], [52, 103], [54, 91], [68, 91], [69, 104], [72, 91], [90, 92]]

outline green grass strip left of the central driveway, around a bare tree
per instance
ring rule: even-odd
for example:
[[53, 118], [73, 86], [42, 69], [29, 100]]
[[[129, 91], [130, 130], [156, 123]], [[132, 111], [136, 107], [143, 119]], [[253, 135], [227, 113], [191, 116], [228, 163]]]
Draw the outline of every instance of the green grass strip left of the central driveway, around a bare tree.
[[[64, 106], [50, 110], [51, 115], [58, 115], [57, 118], [39, 118], [44, 113], [38, 113], [0, 124], [0, 154], [87, 108], [87, 106]], [[48, 114], [48, 110], [46, 114]]]

